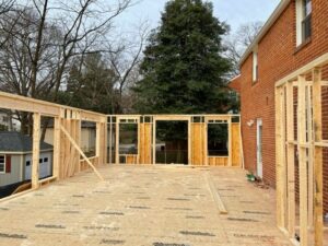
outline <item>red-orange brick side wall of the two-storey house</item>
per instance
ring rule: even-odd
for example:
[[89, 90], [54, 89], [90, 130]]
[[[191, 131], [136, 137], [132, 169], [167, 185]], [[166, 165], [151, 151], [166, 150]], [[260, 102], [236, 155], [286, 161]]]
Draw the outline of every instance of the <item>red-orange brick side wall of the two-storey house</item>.
[[[245, 167], [256, 173], [256, 119], [262, 119], [263, 180], [276, 186], [274, 83], [328, 52], [328, 1], [313, 0], [312, 39], [296, 48], [296, 10], [292, 0], [258, 44], [258, 81], [253, 83], [253, 54], [241, 67], [242, 130]], [[328, 69], [324, 79], [328, 80]], [[324, 131], [328, 139], [328, 91], [324, 90]], [[253, 126], [247, 122], [254, 120]], [[325, 124], [326, 122], [326, 124]], [[328, 150], [324, 155], [324, 197], [328, 212]]]

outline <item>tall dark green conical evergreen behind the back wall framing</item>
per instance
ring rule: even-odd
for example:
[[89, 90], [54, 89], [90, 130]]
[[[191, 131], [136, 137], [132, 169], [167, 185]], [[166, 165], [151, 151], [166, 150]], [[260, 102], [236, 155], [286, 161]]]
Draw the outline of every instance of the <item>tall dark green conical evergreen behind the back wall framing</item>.
[[225, 113], [232, 104], [222, 56], [227, 26], [202, 0], [172, 0], [153, 30], [136, 85], [136, 109], [147, 114]]

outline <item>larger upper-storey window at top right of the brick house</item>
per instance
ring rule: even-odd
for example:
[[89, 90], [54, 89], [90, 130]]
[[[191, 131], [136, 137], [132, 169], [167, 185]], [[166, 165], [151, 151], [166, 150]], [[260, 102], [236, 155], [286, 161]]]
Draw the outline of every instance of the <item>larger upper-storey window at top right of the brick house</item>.
[[296, 44], [308, 40], [312, 35], [312, 0], [296, 0]]

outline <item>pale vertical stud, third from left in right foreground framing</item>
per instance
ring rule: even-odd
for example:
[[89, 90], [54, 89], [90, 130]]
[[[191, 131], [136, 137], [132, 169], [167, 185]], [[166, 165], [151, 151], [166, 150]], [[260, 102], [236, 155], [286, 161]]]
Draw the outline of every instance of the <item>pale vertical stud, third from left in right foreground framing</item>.
[[298, 136], [298, 168], [300, 168], [300, 237], [301, 246], [308, 245], [308, 206], [307, 206], [307, 154], [306, 154], [306, 104], [305, 77], [298, 77], [297, 99], [297, 136]]

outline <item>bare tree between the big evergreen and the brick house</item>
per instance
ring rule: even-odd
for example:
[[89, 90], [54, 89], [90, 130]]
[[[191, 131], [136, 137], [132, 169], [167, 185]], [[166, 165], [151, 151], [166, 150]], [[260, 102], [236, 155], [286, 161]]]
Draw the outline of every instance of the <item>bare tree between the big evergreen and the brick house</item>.
[[233, 71], [230, 77], [239, 74], [238, 62], [261, 27], [262, 22], [249, 22], [241, 25], [235, 33], [227, 36], [225, 40], [225, 46], [227, 48], [226, 56], [233, 63]]

